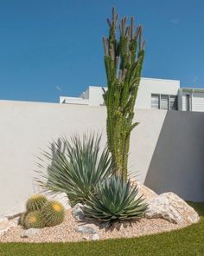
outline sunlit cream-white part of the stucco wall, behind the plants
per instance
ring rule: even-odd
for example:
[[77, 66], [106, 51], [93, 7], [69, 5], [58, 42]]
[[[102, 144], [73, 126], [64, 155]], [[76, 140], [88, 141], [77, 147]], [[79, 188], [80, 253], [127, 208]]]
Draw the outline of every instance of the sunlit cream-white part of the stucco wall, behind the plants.
[[[165, 113], [137, 113], [141, 124], [132, 134], [130, 169], [138, 171], [141, 181], [150, 165]], [[102, 131], [102, 143], [106, 141], [105, 107], [0, 101], [0, 116], [0, 215], [15, 210], [34, 193], [36, 157], [47, 148], [48, 141], [88, 130]]]

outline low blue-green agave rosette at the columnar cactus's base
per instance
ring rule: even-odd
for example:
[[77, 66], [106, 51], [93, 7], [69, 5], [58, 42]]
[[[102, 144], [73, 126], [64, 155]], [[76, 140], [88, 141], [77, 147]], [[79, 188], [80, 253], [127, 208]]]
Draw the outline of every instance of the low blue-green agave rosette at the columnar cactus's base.
[[138, 220], [143, 217], [147, 204], [143, 196], [137, 198], [137, 186], [113, 175], [100, 182], [94, 194], [86, 201], [87, 218], [101, 221]]

